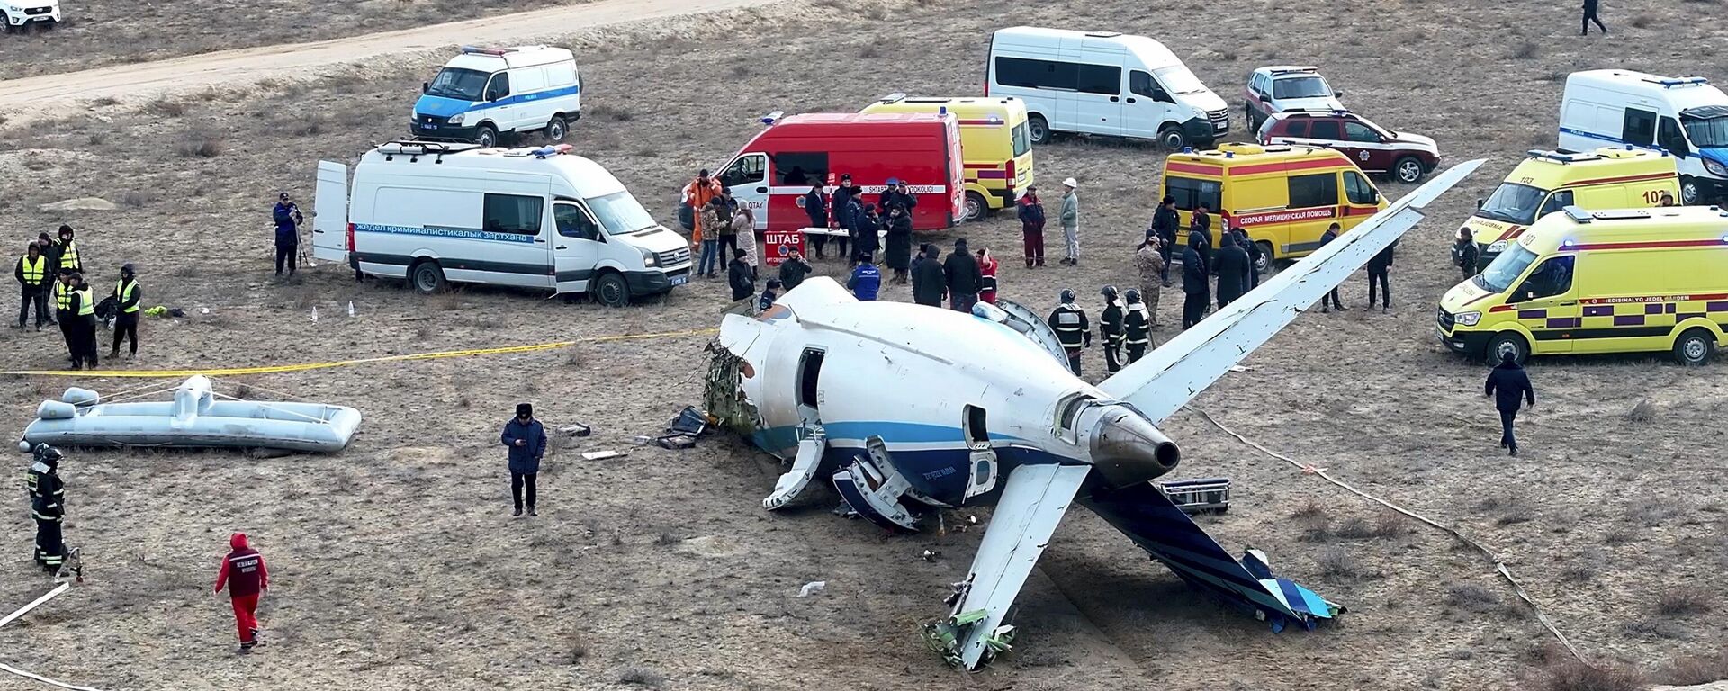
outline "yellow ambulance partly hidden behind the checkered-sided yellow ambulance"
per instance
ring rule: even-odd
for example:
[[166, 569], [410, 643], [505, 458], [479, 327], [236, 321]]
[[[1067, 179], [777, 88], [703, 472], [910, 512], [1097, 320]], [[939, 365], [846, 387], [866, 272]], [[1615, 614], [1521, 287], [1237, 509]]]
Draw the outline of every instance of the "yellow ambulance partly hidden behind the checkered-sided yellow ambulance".
[[1481, 271], [1538, 218], [1567, 206], [1631, 209], [1662, 204], [1662, 192], [1680, 199], [1680, 174], [1666, 152], [1597, 149], [1585, 154], [1531, 150], [1464, 230], [1476, 240]]

